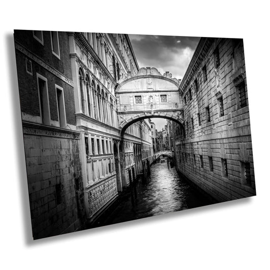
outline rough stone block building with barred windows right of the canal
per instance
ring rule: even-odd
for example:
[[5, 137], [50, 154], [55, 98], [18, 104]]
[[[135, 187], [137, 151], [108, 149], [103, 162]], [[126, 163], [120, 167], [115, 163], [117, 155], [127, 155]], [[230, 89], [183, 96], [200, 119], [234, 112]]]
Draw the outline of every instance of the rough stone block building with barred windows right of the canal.
[[180, 94], [185, 130], [174, 124], [178, 171], [218, 202], [254, 196], [243, 41], [201, 38]]

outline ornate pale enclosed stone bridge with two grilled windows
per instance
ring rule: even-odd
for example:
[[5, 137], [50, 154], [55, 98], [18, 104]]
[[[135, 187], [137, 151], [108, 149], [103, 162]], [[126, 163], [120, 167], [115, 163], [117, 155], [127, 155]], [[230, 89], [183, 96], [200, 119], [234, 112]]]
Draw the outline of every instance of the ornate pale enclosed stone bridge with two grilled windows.
[[166, 118], [184, 130], [180, 81], [168, 71], [162, 75], [155, 67], [142, 67], [135, 75], [129, 72], [119, 81], [117, 97], [121, 135], [133, 123], [146, 118]]

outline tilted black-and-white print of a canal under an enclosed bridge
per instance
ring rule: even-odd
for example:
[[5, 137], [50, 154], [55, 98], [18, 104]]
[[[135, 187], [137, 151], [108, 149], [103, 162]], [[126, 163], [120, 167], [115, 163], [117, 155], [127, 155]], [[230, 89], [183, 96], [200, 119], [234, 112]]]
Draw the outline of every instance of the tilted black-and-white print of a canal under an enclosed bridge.
[[33, 239], [256, 195], [241, 38], [14, 41]]

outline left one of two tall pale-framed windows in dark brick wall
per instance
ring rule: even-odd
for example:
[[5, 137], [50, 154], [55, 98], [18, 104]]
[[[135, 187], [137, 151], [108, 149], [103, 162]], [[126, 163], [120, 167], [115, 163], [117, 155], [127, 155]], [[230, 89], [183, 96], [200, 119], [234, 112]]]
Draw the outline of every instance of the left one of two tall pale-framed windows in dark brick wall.
[[46, 125], [51, 124], [51, 114], [49, 105], [49, 94], [47, 79], [44, 76], [36, 73], [38, 98], [40, 99], [40, 112], [42, 123]]

